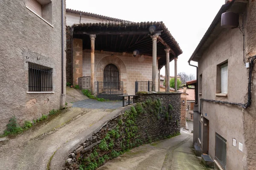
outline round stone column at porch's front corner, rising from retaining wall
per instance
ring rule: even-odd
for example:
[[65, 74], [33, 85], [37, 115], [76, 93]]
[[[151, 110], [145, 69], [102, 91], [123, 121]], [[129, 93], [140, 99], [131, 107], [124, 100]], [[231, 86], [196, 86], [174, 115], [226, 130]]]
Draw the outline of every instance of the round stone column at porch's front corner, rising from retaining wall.
[[152, 50], [152, 91], [156, 91], [156, 82], [157, 82], [157, 37], [158, 34], [151, 36], [153, 41], [153, 50]]

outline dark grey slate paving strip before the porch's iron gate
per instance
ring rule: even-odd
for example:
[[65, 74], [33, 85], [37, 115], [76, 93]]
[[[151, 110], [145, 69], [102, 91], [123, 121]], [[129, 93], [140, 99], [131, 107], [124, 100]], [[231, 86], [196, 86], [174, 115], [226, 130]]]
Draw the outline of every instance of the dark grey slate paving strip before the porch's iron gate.
[[117, 102], [99, 102], [94, 99], [84, 99], [78, 102], [73, 102], [72, 107], [90, 108], [90, 109], [116, 109], [122, 107], [122, 101]]

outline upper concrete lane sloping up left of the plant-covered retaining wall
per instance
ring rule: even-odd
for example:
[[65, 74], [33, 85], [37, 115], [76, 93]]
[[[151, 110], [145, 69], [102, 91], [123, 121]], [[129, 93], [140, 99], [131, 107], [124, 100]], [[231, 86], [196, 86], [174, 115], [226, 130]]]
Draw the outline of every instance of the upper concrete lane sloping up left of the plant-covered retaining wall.
[[[92, 133], [92, 127], [101, 127], [111, 116], [115, 116], [112, 111], [68, 108], [38, 122], [15, 138], [0, 142], [0, 170], [46, 170], [57, 150], [63, 150], [66, 144], [73, 147], [83, 142], [84, 133]], [[62, 156], [67, 158], [67, 155]], [[64, 159], [61, 161], [63, 164]]]

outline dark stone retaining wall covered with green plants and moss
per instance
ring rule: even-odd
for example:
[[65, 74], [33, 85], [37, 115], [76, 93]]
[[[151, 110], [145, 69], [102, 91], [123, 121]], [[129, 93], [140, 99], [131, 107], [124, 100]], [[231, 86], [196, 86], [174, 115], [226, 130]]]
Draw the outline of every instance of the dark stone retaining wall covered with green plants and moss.
[[142, 94], [136, 100], [76, 147], [66, 170], [93, 170], [133, 147], [180, 133], [180, 94]]

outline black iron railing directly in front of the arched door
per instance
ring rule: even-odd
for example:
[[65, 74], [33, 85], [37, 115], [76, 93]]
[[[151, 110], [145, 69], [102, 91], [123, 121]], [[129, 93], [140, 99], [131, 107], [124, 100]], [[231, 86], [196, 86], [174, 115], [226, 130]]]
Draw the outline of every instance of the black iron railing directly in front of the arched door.
[[99, 98], [121, 100], [123, 95], [123, 82], [94, 82], [94, 94]]

